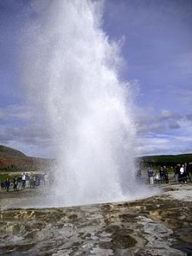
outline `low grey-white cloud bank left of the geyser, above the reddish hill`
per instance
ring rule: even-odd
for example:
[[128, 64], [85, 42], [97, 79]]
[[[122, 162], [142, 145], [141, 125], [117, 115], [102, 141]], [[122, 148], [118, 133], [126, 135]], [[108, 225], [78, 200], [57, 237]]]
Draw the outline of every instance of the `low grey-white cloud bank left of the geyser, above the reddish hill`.
[[52, 154], [49, 127], [42, 124], [44, 116], [29, 106], [0, 108], [0, 144], [24, 154], [48, 157]]

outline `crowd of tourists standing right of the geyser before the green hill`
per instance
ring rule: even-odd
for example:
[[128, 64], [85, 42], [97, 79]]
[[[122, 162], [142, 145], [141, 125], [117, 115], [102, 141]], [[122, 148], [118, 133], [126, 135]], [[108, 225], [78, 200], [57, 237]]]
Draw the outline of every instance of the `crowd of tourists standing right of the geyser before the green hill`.
[[[187, 183], [191, 182], [192, 176], [192, 165], [184, 163], [183, 165], [177, 164], [173, 169], [174, 181], [176, 183]], [[154, 172], [151, 167], [147, 170], [148, 182], [150, 184], [154, 183], [169, 183], [169, 172], [166, 166], [160, 166], [159, 171]]]

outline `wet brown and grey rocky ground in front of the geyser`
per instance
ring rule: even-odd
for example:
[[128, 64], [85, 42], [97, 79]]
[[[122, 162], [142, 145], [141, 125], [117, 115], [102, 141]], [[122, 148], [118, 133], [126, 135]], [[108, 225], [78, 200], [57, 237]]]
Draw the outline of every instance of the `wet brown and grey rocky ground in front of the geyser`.
[[32, 191], [0, 192], [0, 254], [192, 255], [192, 184], [162, 189], [143, 200], [42, 209], [11, 207]]

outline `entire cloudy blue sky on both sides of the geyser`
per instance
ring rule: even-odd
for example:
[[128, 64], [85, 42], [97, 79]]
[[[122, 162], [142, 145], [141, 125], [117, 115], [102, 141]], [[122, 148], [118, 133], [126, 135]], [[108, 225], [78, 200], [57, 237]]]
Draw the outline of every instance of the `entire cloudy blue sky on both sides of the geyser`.
[[[19, 86], [20, 34], [32, 19], [30, 2], [0, 0], [0, 144], [48, 156], [49, 137], [30, 123], [32, 113]], [[102, 29], [109, 41], [120, 42], [125, 60], [120, 79], [139, 88], [139, 154], [192, 152], [191, 28], [191, 0], [104, 2]]]

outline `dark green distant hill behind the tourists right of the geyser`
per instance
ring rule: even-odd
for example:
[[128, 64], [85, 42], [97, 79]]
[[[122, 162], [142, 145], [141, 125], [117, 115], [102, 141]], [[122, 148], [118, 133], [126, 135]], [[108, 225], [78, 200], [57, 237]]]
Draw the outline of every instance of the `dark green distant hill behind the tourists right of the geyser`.
[[139, 157], [137, 160], [143, 166], [176, 166], [192, 162], [192, 154], [151, 155]]

